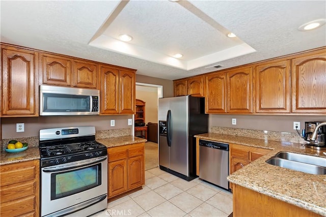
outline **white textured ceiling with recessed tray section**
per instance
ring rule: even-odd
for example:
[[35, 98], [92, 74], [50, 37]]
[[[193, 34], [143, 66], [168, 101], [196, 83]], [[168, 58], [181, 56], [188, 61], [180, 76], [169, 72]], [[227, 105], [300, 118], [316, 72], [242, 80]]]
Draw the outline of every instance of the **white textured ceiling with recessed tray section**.
[[[1, 1], [0, 9], [2, 42], [170, 80], [326, 46], [326, 25], [297, 30], [325, 19], [326, 1]], [[124, 33], [133, 40], [119, 42]]]

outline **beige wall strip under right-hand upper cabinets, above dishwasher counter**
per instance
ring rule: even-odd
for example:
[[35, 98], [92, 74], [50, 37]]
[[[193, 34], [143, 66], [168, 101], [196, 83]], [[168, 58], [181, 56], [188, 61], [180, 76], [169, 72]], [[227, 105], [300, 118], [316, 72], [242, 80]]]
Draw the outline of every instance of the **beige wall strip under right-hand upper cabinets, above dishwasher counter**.
[[[232, 118], [236, 118], [236, 125], [232, 125]], [[295, 133], [296, 131], [293, 130], [293, 121], [300, 122], [299, 132], [302, 132], [305, 121], [326, 121], [326, 115], [308, 116], [210, 114], [208, 119], [209, 127], [218, 126]]]

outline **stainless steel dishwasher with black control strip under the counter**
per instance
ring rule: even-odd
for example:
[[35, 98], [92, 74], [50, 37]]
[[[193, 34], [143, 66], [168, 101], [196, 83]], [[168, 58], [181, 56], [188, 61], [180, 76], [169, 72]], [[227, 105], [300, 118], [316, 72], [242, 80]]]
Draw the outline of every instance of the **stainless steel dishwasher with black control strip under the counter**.
[[199, 140], [199, 178], [229, 191], [229, 144]]

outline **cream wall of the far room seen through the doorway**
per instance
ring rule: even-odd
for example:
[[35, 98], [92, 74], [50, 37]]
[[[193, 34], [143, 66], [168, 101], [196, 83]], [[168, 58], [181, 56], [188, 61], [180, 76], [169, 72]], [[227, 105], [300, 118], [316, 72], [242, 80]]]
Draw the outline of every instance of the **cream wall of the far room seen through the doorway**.
[[157, 88], [136, 86], [136, 99], [143, 100], [145, 104], [145, 122], [157, 123]]

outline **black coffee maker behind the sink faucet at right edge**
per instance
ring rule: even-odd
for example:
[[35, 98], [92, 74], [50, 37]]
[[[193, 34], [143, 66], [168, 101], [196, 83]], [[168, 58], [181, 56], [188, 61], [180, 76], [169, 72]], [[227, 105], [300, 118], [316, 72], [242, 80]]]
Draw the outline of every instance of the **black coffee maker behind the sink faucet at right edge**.
[[[305, 140], [310, 142], [310, 138], [315, 131], [316, 127], [322, 123], [322, 121], [309, 121], [305, 122]], [[325, 145], [325, 134], [326, 134], [326, 126], [321, 126], [317, 131], [317, 138], [314, 145], [324, 146]]]

